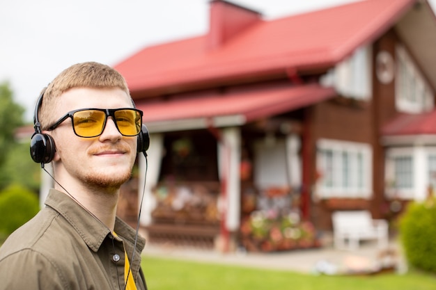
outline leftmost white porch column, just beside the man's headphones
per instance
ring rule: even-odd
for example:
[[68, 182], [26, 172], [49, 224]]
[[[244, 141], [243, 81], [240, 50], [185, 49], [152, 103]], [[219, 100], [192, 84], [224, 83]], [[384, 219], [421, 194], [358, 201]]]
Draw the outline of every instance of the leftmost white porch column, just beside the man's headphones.
[[[164, 136], [162, 134], [150, 134], [150, 147], [148, 147], [147, 150], [148, 162], [142, 153], [138, 156], [138, 209], [141, 207], [141, 198], [142, 195], [144, 195], [141, 218], [139, 220], [139, 224], [141, 226], [150, 225], [152, 221], [151, 212], [156, 206], [156, 200], [153, 197], [152, 190], [157, 184], [157, 179], [159, 179], [160, 165], [162, 163], [163, 141]], [[144, 182], [146, 182], [146, 187], [145, 191], [143, 192]]]

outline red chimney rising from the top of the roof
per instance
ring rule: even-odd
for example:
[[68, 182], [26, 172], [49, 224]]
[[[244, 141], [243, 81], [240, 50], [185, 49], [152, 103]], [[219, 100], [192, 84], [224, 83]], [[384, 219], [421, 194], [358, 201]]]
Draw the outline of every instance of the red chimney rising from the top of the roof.
[[260, 13], [224, 0], [210, 1], [208, 49], [217, 49], [249, 26], [261, 21]]

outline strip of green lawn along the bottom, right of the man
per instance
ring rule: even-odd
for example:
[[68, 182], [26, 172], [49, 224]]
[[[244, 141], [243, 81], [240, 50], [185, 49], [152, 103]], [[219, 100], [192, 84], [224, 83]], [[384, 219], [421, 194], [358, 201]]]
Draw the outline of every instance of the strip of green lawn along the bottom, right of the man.
[[369, 277], [304, 275], [289, 271], [263, 270], [177, 259], [144, 256], [142, 266], [148, 289], [153, 290], [430, 290], [436, 275], [412, 272]]

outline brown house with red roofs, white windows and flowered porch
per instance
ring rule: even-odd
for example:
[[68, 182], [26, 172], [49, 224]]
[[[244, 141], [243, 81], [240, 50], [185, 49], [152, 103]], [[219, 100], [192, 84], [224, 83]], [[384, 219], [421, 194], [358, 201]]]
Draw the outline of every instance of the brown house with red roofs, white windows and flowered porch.
[[334, 211], [394, 218], [425, 199], [436, 185], [434, 47], [427, 1], [266, 21], [212, 0], [208, 33], [115, 65], [150, 131], [138, 175], [150, 240], [316, 246]]

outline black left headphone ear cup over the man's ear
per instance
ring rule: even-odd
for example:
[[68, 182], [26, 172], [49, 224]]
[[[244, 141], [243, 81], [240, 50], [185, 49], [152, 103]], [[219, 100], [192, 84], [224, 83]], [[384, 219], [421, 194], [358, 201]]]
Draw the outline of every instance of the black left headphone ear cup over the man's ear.
[[50, 163], [54, 158], [56, 147], [52, 136], [42, 133], [33, 134], [30, 142], [30, 154], [36, 163]]

